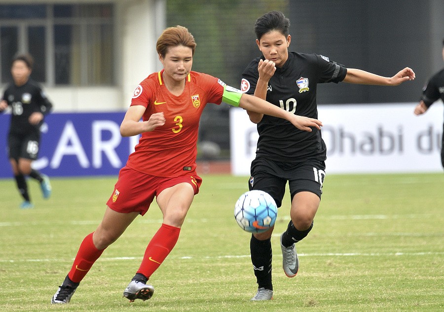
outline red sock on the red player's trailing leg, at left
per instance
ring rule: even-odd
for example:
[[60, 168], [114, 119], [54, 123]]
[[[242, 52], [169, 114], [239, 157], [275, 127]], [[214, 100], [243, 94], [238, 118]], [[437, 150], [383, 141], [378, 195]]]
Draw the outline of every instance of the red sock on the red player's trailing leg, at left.
[[80, 282], [96, 260], [100, 257], [105, 249], [99, 250], [94, 246], [92, 236], [94, 232], [88, 234], [78, 248], [75, 256], [73, 267], [71, 268], [68, 277], [75, 283]]

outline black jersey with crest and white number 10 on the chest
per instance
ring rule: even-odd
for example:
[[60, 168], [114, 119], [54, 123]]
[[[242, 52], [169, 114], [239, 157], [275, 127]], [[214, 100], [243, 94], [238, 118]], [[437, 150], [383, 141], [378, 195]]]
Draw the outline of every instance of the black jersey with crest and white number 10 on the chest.
[[[264, 57], [254, 59], [242, 73], [241, 90], [254, 95], [259, 79], [258, 64]], [[316, 90], [318, 83], [338, 83], [347, 69], [322, 55], [289, 52], [282, 68], [277, 68], [268, 81], [266, 100], [296, 115], [318, 118]], [[297, 129], [289, 121], [264, 115], [258, 124], [257, 157], [287, 163], [307, 159], [324, 161], [326, 145], [321, 131]]]

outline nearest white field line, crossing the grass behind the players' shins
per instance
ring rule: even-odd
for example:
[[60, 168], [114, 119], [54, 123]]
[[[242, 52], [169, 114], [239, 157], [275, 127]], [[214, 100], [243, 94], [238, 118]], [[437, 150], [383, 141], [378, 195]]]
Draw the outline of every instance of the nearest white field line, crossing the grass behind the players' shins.
[[[300, 257], [399, 257], [399, 256], [436, 256], [444, 255], [444, 252], [348, 252], [348, 253], [298, 253]], [[273, 254], [273, 257], [282, 257], [282, 254]], [[224, 255], [224, 256], [205, 256], [205, 257], [193, 257], [193, 256], [170, 256], [168, 259], [176, 260], [202, 260], [202, 259], [239, 259], [250, 258], [250, 255]], [[20, 262], [72, 262], [74, 259], [0, 259], [0, 263], [20, 263]], [[101, 257], [97, 261], [121, 261], [121, 260], [142, 260], [142, 257]]]

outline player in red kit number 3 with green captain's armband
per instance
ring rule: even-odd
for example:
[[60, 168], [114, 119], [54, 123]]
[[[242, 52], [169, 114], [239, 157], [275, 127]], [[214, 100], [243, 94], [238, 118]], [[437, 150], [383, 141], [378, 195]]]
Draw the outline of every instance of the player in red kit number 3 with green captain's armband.
[[168, 28], [158, 38], [156, 51], [163, 69], [150, 74], [136, 88], [120, 125], [123, 137], [142, 137], [120, 170], [102, 222], [80, 244], [71, 271], [52, 297], [53, 304], [70, 302], [79, 282], [105, 248], [139, 214], [147, 212], [155, 197], [163, 223], [123, 292], [130, 302], [151, 298], [154, 287], [147, 281], [178, 241], [185, 215], [202, 182], [196, 173], [197, 134], [207, 103], [224, 101], [286, 118], [301, 130], [320, 129], [321, 122], [316, 119], [296, 116], [226, 86], [218, 78], [191, 71], [195, 47], [193, 36], [182, 26]]

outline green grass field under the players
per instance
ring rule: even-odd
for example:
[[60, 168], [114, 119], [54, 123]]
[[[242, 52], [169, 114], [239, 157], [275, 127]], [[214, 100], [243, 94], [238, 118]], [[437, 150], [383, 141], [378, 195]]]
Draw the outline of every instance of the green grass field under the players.
[[444, 311], [444, 174], [331, 175], [295, 278], [282, 271], [278, 210], [274, 300], [251, 302], [257, 284], [250, 234], [233, 217], [247, 177], [203, 176], [176, 247], [151, 277], [154, 296], [129, 303], [123, 289], [161, 224], [153, 204], [95, 263], [68, 305], [50, 305], [81, 240], [100, 222], [116, 177], [53, 178], [53, 196], [21, 210], [0, 180], [0, 311]]

